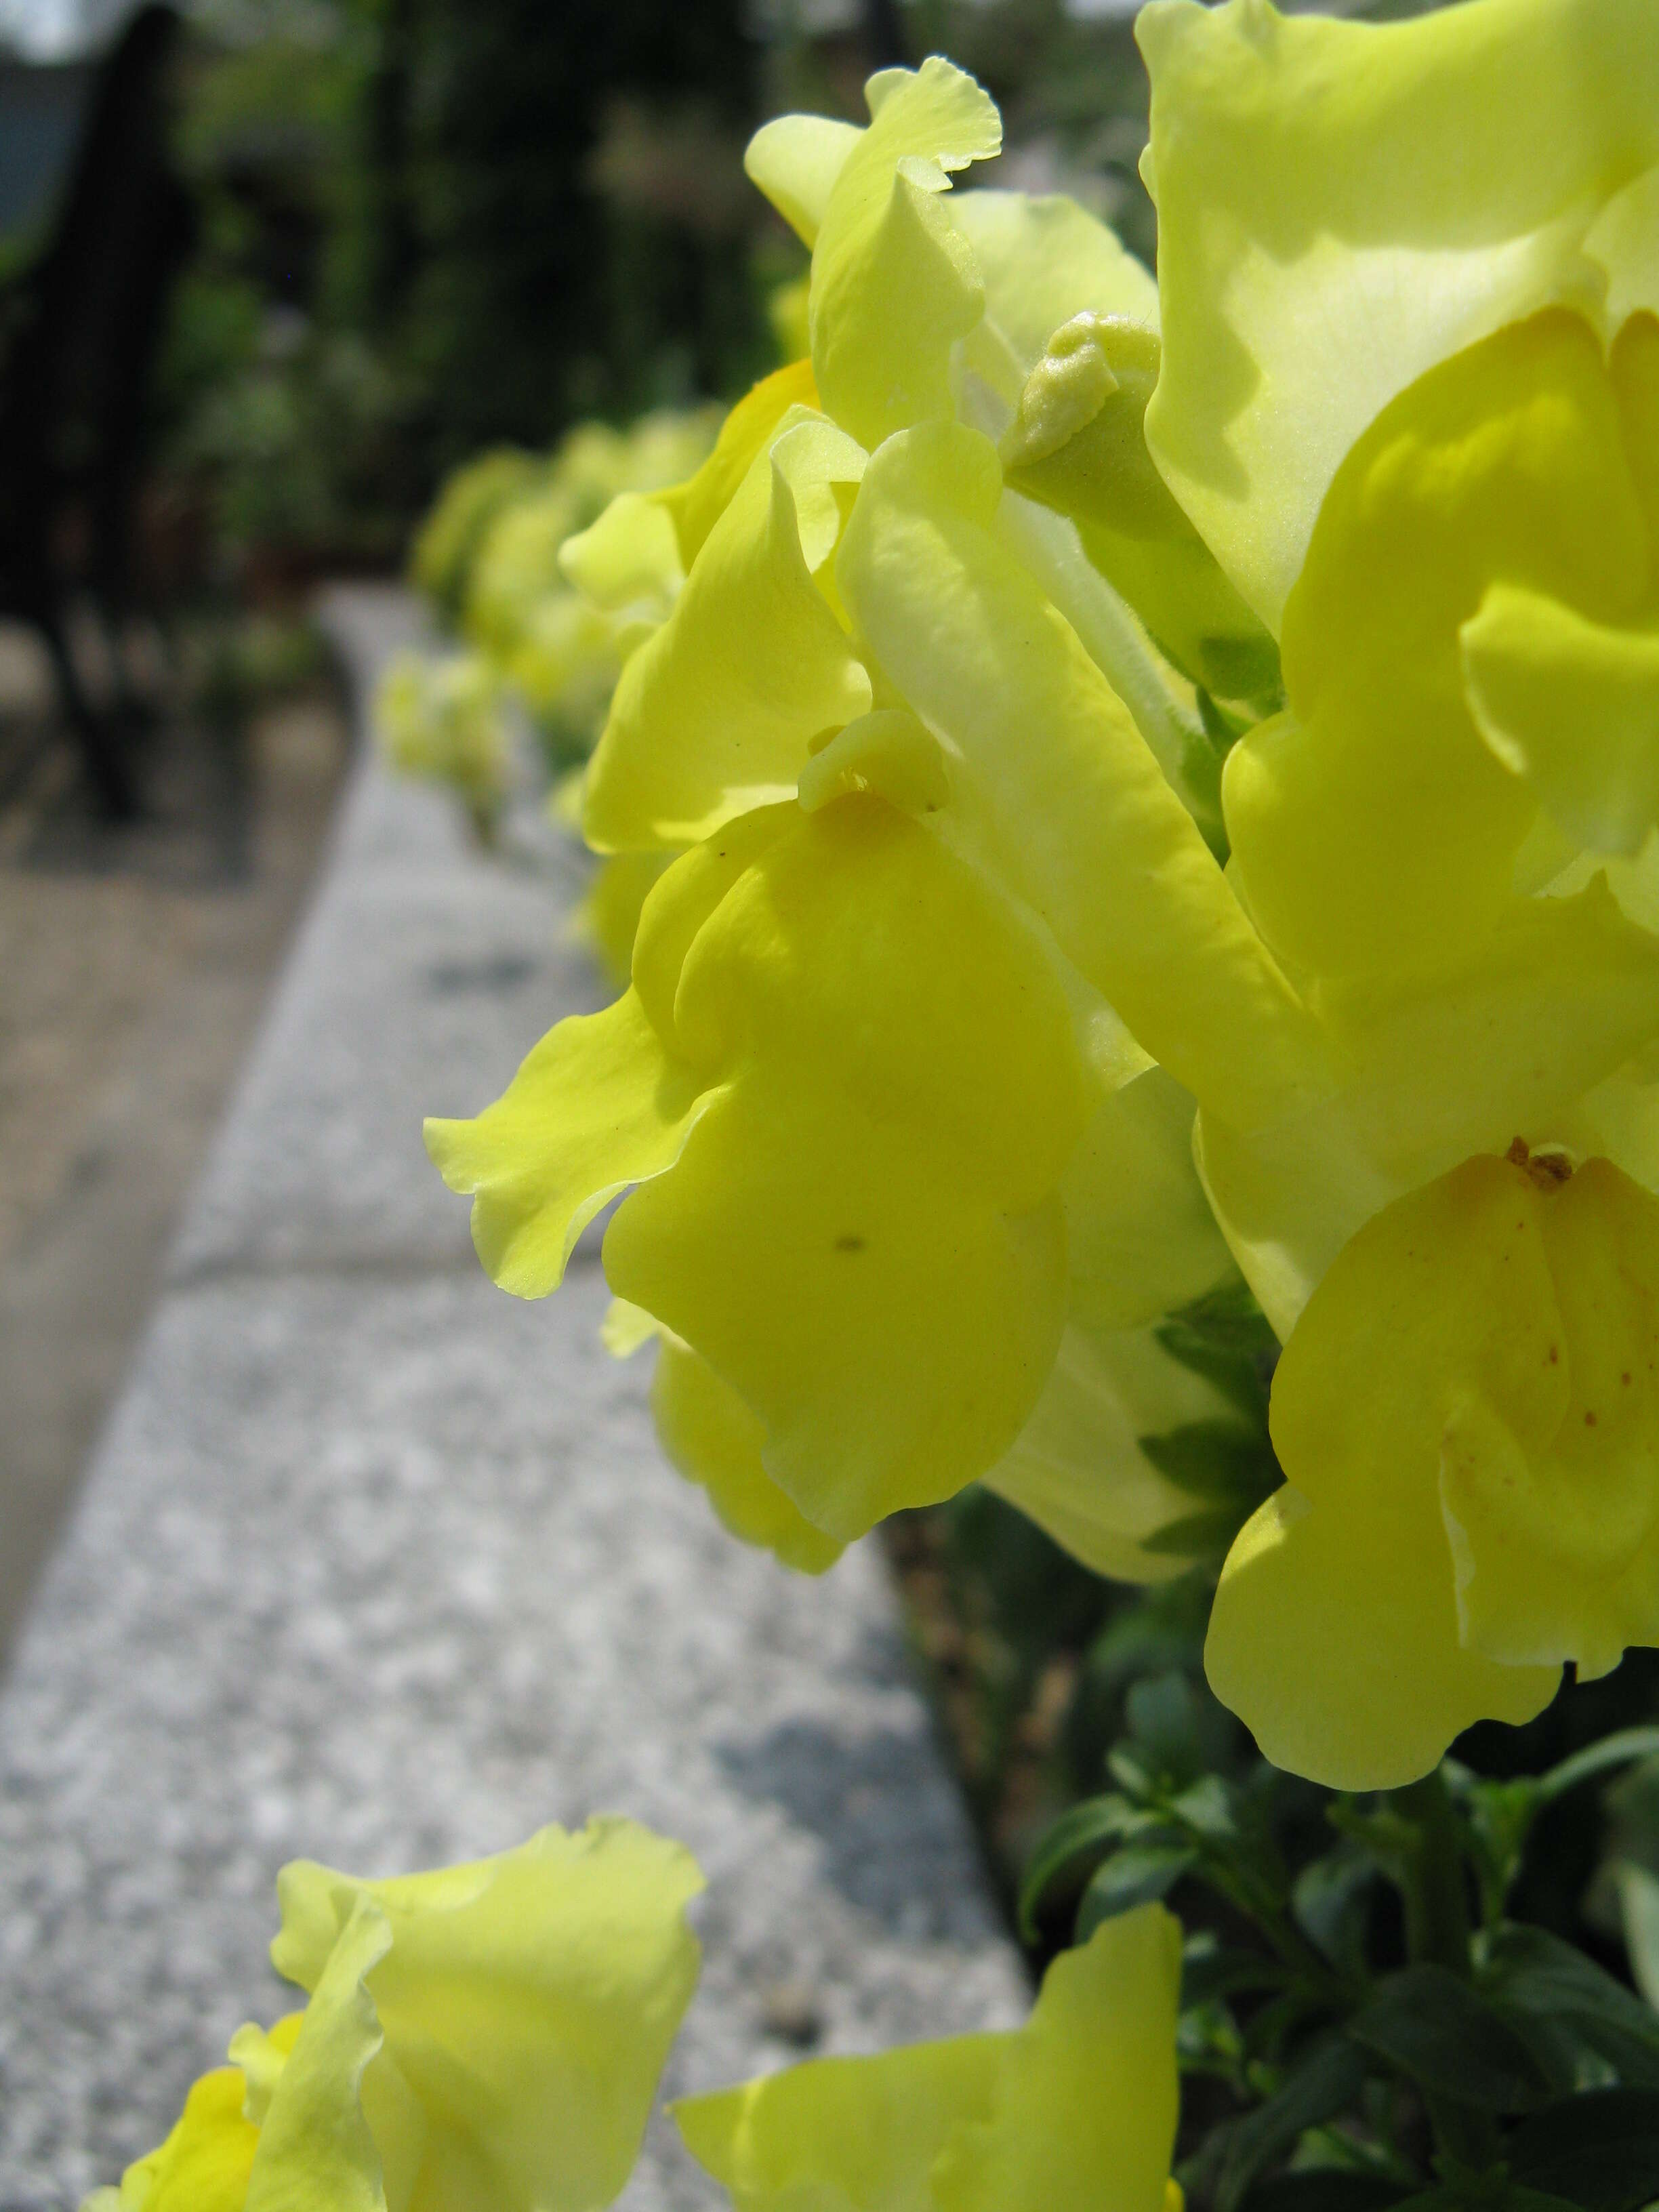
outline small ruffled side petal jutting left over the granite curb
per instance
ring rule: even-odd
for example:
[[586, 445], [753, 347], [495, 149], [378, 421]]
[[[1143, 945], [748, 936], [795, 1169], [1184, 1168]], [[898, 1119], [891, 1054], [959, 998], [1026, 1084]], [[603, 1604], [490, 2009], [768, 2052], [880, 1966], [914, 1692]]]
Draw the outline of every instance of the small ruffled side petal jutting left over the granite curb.
[[628, 991], [551, 1029], [476, 1119], [427, 1121], [438, 1172], [473, 1197], [473, 1243], [500, 1287], [555, 1290], [599, 1208], [675, 1164], [699, 1093]]

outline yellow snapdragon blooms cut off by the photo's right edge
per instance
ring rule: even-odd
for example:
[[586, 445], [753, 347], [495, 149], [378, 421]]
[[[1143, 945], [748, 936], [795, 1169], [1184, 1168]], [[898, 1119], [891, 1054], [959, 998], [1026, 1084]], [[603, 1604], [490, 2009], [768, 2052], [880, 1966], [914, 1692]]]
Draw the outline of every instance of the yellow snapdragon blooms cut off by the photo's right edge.
[[1659, 27], [1155, 0], [1139, 38], [1146, 434], [1279, 635], [1223, 812], [1327, 1064], [1250, 1128], [1201, 1099], [1290, 1478], [1210, 1672], [1378, 1787], [1659, 1641]]

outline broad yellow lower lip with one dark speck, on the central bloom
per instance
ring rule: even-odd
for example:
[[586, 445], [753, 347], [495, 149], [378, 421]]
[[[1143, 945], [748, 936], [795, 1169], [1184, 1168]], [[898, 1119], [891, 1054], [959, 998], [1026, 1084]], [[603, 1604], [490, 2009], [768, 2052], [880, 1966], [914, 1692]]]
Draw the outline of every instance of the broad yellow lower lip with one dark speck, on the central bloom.
[[[675, 905], [699, 872], [712, 896]], [[721, 1088], [611, 1223], [613, 1290], [741, 1391], [830, 1535], [960, 1489], [1064, 1318], [1055, 1186], [1086, 1095], [1040, 940], [925, 830], [845, 799], [688, 856], [635, 978]]]

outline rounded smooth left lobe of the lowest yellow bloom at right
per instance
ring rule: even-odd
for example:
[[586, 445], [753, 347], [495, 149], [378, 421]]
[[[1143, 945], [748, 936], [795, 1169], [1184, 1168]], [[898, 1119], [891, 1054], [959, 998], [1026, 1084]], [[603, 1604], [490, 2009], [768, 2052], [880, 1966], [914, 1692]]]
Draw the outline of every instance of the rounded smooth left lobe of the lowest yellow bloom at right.
[[1462, 1728], [1528, 1721], [1555, 1694], [1557, 1666], [1469, 1648], [1440, 1506], [1469, 1398], [1535, 1422], [1566, 1387], [1542, 1203], [1502, 1159], [1398, 1199], [1343, 1250], [1279, 1363], [1287, 1489], [1228, 1557], [1206, 1668], [1274, 1765], [1332, 1790], [1413, 1781]]

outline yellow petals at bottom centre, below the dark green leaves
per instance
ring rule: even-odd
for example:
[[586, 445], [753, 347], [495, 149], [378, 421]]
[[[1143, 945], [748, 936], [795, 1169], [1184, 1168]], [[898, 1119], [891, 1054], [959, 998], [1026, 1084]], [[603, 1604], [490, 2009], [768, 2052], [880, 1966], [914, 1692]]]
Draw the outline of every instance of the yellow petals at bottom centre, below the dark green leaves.
[[1179, 1924], [1144, 1905], [1062, 1953], [1015, 2033], [810, 2059], [675, 2121], [734, 2212], [1175, 2212], [1179, 1980]]

